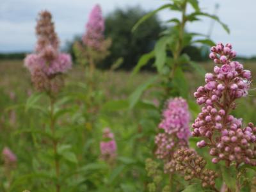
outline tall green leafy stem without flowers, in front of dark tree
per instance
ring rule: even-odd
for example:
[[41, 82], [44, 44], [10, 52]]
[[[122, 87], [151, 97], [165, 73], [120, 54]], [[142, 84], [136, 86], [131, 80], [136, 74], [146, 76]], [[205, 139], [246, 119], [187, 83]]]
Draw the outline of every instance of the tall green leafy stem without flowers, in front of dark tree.
[[[189, 6], [193, 9], [191, 13], [188, 13]], [[229, 33], [227, 25], [223, 24], [216, 15], [210, 15], [209, 13], [202, 12], [198, 1], [194, 0], [170, 0], [167, 4], [164, 4], [153, 12], [142, 17], [134, 25], [132, 31], [136, 33], [136, 29], [140, 27], [141, 23], [161, 10], [178, 12], [181, 17], [175, 17], [167, 21], [170, 25], [165, 31], [163, 31], [163, 33], [160, 34], [160, 38], [157, 40], [154, 50], [141, 56], [134, 68], [132, 74], [136, 74], [141, 67], [147, 65], [148, 61], [154, 59], [154, 68], [157, 70], [157, 75], [145, 81], [141, 86], [138, 86], [138, 88], [132, 93], [129, 99], [131, 108], [140, 100], [140, 96], [145, 92], [145, 90], [152, 87], [157, 88], [157, 95], [159, 95], [161, 104], [171, 96], [182, 96], [183, 98], [188, 99], [189, 86], [184, 76], [184, 66], [186, 65], [194, 68], [198, 74], [204, 75], [204, 68], [198, 65], [195, 61], [191, 61], [188, 54], [183, 51], [190, 45], [202, 44], [212, 46], [214, 43], [209, 38], [205, 38], [205, 35], [186, 31], [186, 25], [188, 22], [200, 20], [201, 17], [209, 17], [216, 20], [216, 22], [219, 22], [225, 31]], [[135, 95], [138, 96], [135, 97]]]

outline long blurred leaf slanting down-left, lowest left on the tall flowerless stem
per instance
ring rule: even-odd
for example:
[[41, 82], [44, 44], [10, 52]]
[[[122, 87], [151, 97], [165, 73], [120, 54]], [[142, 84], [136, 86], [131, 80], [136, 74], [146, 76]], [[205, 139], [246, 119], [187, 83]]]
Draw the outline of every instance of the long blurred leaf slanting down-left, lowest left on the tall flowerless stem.
[[156, 81], [156, 79], [157, 76], [154, 76], [145, 81], [143, 84], [140, 84], [140, 86], [136, 88], [136, 90], [129, 97], [130, 109], [134, 108], [134, 106], [138, 103], [138, 100], [140, 99], [141, 95], [154, 83], [154, 81]]

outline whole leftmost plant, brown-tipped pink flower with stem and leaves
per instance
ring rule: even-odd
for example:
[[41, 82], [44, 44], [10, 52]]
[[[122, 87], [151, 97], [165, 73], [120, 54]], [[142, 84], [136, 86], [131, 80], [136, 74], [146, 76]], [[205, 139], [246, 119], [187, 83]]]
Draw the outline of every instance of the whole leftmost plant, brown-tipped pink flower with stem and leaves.
[[[48, 183], [47, 190], [60, 192], [63, 191], [61, 188], [64, 187], [61, 182], [68, 178], [67, 173], [63, 170], [74, 168], [74, 164], [77, 164], [77, 157], [72, 152], [71, 145], [61, 142], [65, 140], [67, 129], [58, 125], [60, 122], [62, 126], [65, 124], [61, 116], [68, 111], [61, 106], [61, 104], [67, 102], [67, 98], [63, 98], [64, 102], [61, 101], [59, 93], [64, 85], [64, 74], [72, 67], [72, 61], [69, 54], [59, 51], [60, 42], [54, 31], [54, 23], [50, 12], [42, 11], [39, 13], [36, 36], [38, 40], [35, 53], [29, 54], [24, 60], [25, 66], [31, 73], [33, 85], [36, 90], [41, 92], [41, 94], [36, 93], [29, 97], [25, 111], [39, 109], [44, 119], [42, 130], [38, 131], [38, 135], [29, 130], [38, 151], [36, 156], [33, 157], [33, 162], [38, 165], [36, 166], [38, 170], [33, 170], [33, 172], [45, 175], [44, 177], [47, 180], [39, 179], [38, 182], [41, 182], [42, 186]], [[49, 106], [46, 105], [47, 108], [40, 105], [40, 99], [45, 95], [47, 96], [45, 99], [49, 100]], [[48, 157], [48, 159], [44, 162], [40, 161], [44, 157]], [[62, 168], [63, 166], [65, 169]]]

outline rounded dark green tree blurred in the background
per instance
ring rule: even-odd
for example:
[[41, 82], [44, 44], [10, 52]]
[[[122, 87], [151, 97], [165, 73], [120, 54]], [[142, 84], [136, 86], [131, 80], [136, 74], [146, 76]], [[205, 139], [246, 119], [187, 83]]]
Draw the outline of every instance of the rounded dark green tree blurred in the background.
[[159, 33], [163, 31], [157, 16], [151, 17], [132, 33], [132, 27], [145, 15], [141, 8], [117, 9], [106, 17], [106, 36], [112, 39], [109, 56], [101, 64], [109, 68], [118, 58], [123, 58], [122, 68], [131, 69], [138, 62], [141, 54], [153, 49]]

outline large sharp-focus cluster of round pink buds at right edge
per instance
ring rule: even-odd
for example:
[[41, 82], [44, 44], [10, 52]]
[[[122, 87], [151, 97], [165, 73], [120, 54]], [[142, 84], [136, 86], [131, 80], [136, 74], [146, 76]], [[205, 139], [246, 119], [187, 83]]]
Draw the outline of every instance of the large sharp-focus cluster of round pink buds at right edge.
[[256, 127], [249, 123], [243, 128], [241, 118], [230, 115], [236, 99], [248, 95], [251, 72], [241, 63], [232, 61], [236, 52], [232, 45], [217, 44], [210, 58], [217, 65], [213, 73], [205, 74], [205, 85], [194, 93], [196, 102], [203, 105], [193, 124], [193, 136], [202, 137], [197, 147], [209, 147], [212, 162], [223, 160], [256, 165]]

